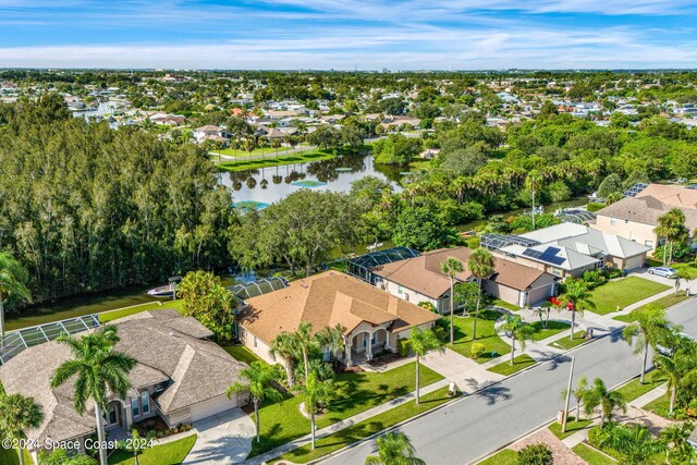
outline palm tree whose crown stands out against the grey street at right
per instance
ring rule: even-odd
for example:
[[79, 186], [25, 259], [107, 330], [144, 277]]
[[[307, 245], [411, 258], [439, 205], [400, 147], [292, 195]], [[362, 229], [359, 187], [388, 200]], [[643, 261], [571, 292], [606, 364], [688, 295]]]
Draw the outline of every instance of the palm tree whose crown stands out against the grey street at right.
[[665, 318], [665, 311], [655, 304], [647, 305], [638, 310], [636, 315], [636, 321], [626, 326], [622, 331], [622, 335], [627, 344], [634, 347], [635, 354], [644, 353], [640, 378], [640, 382], [644, 384], [649, 346], [656, 346], [658, 341], [668, 335], [670, 323]]

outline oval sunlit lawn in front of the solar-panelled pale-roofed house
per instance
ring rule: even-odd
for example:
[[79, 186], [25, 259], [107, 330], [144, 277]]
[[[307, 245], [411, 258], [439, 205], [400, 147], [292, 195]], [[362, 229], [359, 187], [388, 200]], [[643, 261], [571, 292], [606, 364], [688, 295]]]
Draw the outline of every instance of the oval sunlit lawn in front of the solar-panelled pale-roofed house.
[[649, 281], [644, 278], [628, 277], [616, 281], [610, 281], [591, 291], [590, 301], [595, 308], [590, 310], [595, 314], [607, 315], [627, 305], [643, 301], [659, 292], [670, 289], [665, 284]]

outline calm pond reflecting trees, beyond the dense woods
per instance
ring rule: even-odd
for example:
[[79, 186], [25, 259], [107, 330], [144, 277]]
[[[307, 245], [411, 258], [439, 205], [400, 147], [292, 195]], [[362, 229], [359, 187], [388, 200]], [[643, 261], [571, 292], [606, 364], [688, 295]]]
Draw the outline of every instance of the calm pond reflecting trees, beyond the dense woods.
[[235, 204], [264, 208], [301, 189], [348, 192], [351, 183], [365, 176], [389, 181], [402, 188], [399, 168], [376, 166], [372, 156], [344, 155], [329, 160], [221, 173], [222, 184], [232, 187]]

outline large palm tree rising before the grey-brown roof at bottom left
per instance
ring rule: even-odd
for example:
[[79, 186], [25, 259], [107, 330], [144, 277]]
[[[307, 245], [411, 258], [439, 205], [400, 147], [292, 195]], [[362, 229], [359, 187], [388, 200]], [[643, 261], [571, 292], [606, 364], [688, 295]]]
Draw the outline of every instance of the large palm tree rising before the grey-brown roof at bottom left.
[[[91, 400], [95, 405], [97, 437], [101, 442], [105, 440], [102, 411], [106, 411], [109, 404], [107, 395], [113, 393], [122, 401], [125, 400], [131, 389], [129, 372], [136, 366], [137, 360], [114, 350], [119, 342], [114, 326], [101, 327], [81, 338], [61, 335], [57, 341], [68, 345], [73, 357], [56, 369], [51, 388], [58, 388], [76, 377], [75, 412], [84, 414], [87, 402]], [[107, 465], [107, 450], [103, 448], [99, 449], [99, 462]]]

